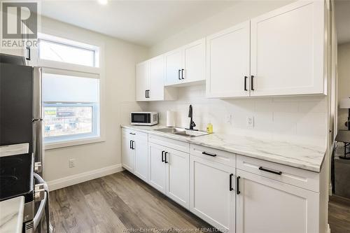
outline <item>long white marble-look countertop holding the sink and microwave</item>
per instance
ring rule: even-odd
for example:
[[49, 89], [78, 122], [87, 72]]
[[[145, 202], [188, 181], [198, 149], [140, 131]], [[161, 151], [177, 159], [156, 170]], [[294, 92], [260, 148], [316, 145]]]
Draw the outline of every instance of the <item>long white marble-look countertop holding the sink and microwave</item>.
[[218, 133], [190, 138], [155, 131], [154, 129], [165, 127], [160, 125], [151, 127], [122, 125], [122, 127], [314, 172], [321, 171], [323, 158], [325, 157], [325, 147], [321, 146], [308, 146], [288, 143], [287, 141], [272, 141], [250, 136]]

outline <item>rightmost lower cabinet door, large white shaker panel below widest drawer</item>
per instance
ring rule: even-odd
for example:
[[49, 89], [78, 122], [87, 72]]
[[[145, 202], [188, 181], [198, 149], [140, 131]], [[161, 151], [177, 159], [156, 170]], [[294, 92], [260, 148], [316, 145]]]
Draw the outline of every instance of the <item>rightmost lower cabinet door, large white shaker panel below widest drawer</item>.
[[237, 169], [237, 233], [316, 233], [319, 194]]

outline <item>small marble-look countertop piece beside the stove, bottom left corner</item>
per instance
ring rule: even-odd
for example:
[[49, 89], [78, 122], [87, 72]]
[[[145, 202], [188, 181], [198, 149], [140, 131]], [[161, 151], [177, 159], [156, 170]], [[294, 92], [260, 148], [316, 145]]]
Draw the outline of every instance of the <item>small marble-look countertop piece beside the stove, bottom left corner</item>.
[[14, 197], [0, 202], [0, 232], [21, 233], [25, 197]]

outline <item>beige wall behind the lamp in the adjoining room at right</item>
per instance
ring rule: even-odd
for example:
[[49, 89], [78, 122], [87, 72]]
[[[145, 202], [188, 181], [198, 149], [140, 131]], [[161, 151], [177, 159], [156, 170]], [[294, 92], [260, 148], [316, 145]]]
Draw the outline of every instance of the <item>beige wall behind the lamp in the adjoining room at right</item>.
[[[346, 97], [350, 97], [350, 43], [338, 46], [338, 104]], [[348, 110], [338, 107], [338, 129], [346, 129], [347, 117]]]

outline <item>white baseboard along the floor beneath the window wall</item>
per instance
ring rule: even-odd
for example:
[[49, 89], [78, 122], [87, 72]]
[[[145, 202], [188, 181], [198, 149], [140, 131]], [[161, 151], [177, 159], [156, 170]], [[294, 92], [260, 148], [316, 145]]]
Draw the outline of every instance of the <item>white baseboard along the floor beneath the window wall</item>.
[[95, 178], [99, 178], [102, 176], [108, 176], [113, 173], [123, 171], [122, 164], [116, 164], [109, 167], [102, 167], [100, 169], [86, 171], [80, 174], [76, 174], [73, 176], [66, 176], [64, 178], [59, 178], [57, 180], [48, 181], [48, 188], [50, 191], [58, 190], [59, 188], [64, 188], [70, 185], [75, 185], [77, 183], [82, 183], [85, 181], [90, 181]]

